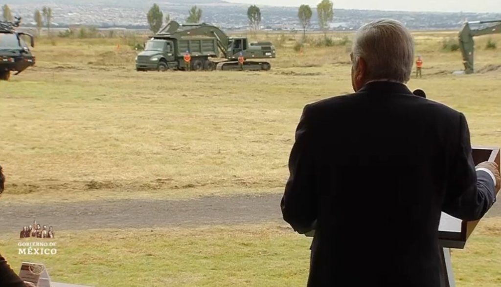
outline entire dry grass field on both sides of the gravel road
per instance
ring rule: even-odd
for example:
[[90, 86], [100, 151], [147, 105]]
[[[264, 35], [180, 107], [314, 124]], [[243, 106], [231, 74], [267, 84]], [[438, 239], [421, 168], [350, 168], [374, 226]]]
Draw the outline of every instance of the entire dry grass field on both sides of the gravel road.
[[[310, 35], [315, 37], [318, 35]], [[342, 41], [350, 34], [333, 34]], [[501, 47], [477, 40], [474, 75], [455, 32], [416, 32], [423, 78], [411, 88], [463, 111], [473, 144], [501, 145]], [[278, 47], [269, 72], [136, 72], [124, 39], [42, 38], [37, 66], [0, 82], [1, 204], [118, 198], [189, 199], [281, 192], [306, 103], [352, 91], [350, 45], [293, 49], [300, 35], [260, 35]], [[493, 36], [501, 45], [501, 36]], [[370, 142], [367, 145], [370, 146]], [[87, 204], [87, 203], [86, 203]], [[278, 204], [278, 203], [277, 203]], [[501, 285], [500, 218], [454, 251], [457, 286]], [[60, 230], [53, 257], [0, 250], [16, 269], [44, 261], [55, 280], [114, 286], [302, 286], [309, 239], [285, 224], [85, 232]]]

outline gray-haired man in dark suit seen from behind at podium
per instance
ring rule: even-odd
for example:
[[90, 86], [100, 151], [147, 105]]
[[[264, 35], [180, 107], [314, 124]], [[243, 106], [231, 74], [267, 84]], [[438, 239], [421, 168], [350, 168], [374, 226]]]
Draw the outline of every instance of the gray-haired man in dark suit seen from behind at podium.
[[464, 115], [404, 84], [413, 59], [400, 22], [364, 25], [356, 92], [303, 111], [281, 207], [316, 229], [308, 286], [438, 287], [441, 211], [479, 219], [495, 201], [498, 167], [474, 166]]

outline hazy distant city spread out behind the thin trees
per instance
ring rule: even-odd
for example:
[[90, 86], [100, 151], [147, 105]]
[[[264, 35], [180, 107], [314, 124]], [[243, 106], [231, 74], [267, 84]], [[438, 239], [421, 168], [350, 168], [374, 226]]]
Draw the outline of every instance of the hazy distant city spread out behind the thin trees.
[[[89, 25], [98, 27], [128, 27], [147, 28], [147, 8], [116, 7], [93, 4], [51, 4], [53, 10], [53, 26], [68, 27], [70, 25]], [[202, 21], [212, 23], [227, 30], [247, 29], [248, 20], [246, 5], [242, 4], [211, 4], [200, 5], [203, 10]], [[15, 15], [23, 17], [24, 25], [34, 25], [33, 14], [36, 7], [29, 4], [12, 4]], [[188, 4], [161, 5], [165, 14], [179, 22], [184, 22], [189, 8]], [[261, 8], [265, 30], [301, 30], [295, 7]], [[312, 18], [310, 29], [317, 30], [316, 11]], [[435, 13], [435, 12], [404, 12], [375, 10], [345, 10], [334, 11], [332, 30], [354, 30], [372, 19], [391, 17], [404, 22], [410, 29], [457, 29], [461, 23], [468, 20], [498, 19], [501, 13]]]

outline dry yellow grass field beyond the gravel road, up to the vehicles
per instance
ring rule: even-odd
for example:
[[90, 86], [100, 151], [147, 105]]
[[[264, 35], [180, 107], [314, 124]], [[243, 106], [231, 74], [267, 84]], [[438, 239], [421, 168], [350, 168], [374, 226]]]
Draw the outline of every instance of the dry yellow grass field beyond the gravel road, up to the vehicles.
[[[465, 112], [473, 143], [501, 145], [501, 72], [452, 75], [461, 56], [441, 42], [454, 35], [415, 34], [424, 77], [409, 86]], [[291, 40], [299, 35], [262, 37], [279, 46], [270, 72], [136, 72], [123, 39], [41, 39], [37, 66], [0, 82], [5, 199], [280, 190], [302, 107], [352, 90], [350, 46], [301, 54]], [[501, 65], [485, 41], [477, 67]]]

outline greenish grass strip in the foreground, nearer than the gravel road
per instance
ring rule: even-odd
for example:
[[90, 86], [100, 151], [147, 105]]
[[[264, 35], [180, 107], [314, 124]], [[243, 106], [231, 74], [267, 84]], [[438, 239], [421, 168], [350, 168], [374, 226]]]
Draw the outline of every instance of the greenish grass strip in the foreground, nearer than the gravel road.
[[[454, 250], [458, 287], [501, 284], [501, 218], [481, 221]], [[311, 239], [283, 224], [59, 231], [58, 254], [18, 255], [16, 234], [0, 250], [16, 270], [43, 262], [55, 281], [119, 286], [304, 286]], [[28, 239], [29, 240], [29, 239]]]

